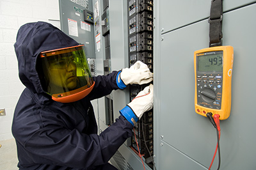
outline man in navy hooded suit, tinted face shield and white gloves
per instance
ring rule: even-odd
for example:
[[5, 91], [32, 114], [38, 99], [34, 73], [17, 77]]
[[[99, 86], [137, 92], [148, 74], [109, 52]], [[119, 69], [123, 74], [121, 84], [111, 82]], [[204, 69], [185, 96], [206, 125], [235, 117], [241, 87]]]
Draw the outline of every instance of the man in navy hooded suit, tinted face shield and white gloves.
[[14, 45], [20, 81], [26, 86], [13, 116], [19, 169], [116, 169], [108, 160], [132, 136], [132, 127], [152, 109], [153, 85], [124, 106], [119, 118], [97, 135], [90, 100], [153, 75], [140, 61], [92, 77], [84, 45], [46, 22], [20, 27]]

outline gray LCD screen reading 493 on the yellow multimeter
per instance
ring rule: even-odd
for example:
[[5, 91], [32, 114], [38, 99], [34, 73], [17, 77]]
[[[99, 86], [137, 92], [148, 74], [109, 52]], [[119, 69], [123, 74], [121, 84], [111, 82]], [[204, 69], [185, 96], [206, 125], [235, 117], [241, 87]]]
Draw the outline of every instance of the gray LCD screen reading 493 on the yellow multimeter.
[[223, 52], [209, 52], [197, 56], [198, 72], [222, 72]]

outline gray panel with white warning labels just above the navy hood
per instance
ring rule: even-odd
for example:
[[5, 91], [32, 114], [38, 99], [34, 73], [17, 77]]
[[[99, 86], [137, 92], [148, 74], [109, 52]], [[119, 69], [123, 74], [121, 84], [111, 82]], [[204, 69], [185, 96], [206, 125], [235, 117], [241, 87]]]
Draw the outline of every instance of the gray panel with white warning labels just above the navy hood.
[[61, 31], [84, 44], [87, 59], [95, 59], [92, 2], [59, 1]]

